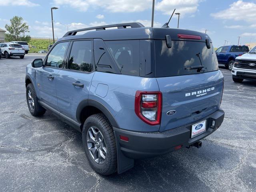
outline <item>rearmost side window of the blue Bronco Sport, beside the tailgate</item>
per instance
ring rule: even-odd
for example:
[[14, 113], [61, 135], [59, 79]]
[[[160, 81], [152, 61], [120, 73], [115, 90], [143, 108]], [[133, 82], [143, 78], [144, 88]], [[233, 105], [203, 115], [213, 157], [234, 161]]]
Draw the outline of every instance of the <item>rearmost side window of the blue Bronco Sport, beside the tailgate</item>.
[[121, 68], [121, 74], [139, 76], [139, 40], [106, 41], [106, 45]]

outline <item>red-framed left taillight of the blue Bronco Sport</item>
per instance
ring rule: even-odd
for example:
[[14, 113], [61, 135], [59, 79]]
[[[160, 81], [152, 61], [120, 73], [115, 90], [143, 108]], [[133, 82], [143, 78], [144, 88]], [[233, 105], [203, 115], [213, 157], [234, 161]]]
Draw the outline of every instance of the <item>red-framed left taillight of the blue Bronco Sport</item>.
[[159, 125], [162, 112], [162, 93], [160, 91], [137, 91], [135, 113], [149, 125]]

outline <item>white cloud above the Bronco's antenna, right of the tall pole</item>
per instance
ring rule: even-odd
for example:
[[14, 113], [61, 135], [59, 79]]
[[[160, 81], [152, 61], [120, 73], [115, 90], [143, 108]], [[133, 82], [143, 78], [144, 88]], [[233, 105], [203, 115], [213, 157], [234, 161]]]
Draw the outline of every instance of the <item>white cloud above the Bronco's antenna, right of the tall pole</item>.
[[192, 14], [197, 11], [199, 2], [200, 0], [162, 0], [156, 3], [156, 10], [171, 15], [176, 8], [175, 12], [180, 12], [182, 15]]

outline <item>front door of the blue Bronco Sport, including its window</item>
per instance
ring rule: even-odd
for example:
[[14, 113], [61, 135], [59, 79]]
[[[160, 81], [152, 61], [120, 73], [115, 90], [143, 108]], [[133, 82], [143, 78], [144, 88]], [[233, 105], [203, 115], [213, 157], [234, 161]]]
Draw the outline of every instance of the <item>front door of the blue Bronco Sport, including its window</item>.
[[45, 65], [36, 70], [38, 98], [58, 110], [56, 97], [57, 74], [62, 68], [69, 42], [60, 42], [54, 46], [45, 59]]

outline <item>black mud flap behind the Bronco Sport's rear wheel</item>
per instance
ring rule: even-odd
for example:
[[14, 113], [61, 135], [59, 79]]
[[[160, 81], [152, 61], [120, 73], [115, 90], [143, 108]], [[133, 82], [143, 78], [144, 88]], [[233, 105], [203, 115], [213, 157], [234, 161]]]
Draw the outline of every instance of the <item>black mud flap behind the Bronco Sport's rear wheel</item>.
[[116, 132], [114, 131], [115, 137], [116, 137], [116, 151], [117, 151], [117, 172], [118, 174], [121, 174], [123, 172], [126, 172], [127, 170], [133, 168], [134, 166], [134, 159], [126, 157], [122, 151], [121, 146], [118, 141], [118, 135], [116, 135]]

